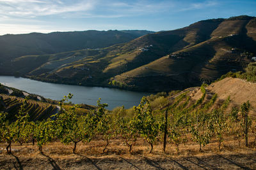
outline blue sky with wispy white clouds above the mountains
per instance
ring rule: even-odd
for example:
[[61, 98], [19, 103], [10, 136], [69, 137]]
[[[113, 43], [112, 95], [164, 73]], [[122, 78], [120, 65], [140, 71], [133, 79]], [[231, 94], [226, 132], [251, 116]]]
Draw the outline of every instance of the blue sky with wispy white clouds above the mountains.
[[166, 31], [199, 20], [256, 16], [256, 0], [0, 0], [0, 35], [29, 32]]

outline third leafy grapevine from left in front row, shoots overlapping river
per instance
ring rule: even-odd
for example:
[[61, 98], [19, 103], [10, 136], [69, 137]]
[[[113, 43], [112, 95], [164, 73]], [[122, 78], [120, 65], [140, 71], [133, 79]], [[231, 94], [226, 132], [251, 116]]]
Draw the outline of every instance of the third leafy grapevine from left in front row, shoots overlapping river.
[[80, 141], [90, 142], [95, 135], [95, 129], [105, 113], [105, 107], [108, 104], [100, 104], [97, 101], [97, 111], [91, 111], [86, 116], [78, 117], [76, 108], [73, 105], [68, 111], [63, 110], [63, 104], [68, 99], [71, 99], [73, 94], [68, 94], [60, 102], [61, 113], [57, 115], [56, 119], [56, 134], [61, 143], [69, 144], [74, 143], [73, 153], [76, 152], [76, 145]]

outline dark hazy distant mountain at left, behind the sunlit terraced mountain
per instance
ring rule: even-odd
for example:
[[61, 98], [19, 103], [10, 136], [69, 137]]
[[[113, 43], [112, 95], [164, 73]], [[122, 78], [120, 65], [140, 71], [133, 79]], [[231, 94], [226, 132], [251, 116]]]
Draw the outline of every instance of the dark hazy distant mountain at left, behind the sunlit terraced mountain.
[[0, 62], [22, 55], [42, 55], [125, 43], [152, 31], [74, 31], [0, 36]]

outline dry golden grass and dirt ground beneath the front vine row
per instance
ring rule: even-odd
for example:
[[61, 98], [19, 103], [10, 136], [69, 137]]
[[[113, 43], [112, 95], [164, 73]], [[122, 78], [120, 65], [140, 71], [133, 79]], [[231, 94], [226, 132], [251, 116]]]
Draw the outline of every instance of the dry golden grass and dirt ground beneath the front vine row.
[[150, 148], [142, 142], [129, 154], [127, 146], [118, 143], [112, 141], [104, 154], [102, 141], [80, 143], [77, 154], [72, 153], [72, 145], [61, 143], [45, 146], [43, 154], [29, 143], [15, 144], [12, 155], [1, 144], [0, 169], [256, 169], [256, 149], [239, 147], [236, 141], [224, 143], [221, 151], [216, 149], [217, 143], [211, 143], [204, 152], [198, 152], [198, 145], [190, 143], [180, 146], [179, 155], [172, 145], [164, 153], [161, 143], [149, 154]]

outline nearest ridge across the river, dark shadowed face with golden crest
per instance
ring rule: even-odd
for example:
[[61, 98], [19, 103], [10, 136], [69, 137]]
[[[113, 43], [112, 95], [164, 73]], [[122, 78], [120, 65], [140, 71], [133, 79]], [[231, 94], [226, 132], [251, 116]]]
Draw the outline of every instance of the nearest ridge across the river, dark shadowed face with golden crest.
[[247, 35], [248, 25], [252, 30], [250, 20], [221, 22], [206, 41], [115, 76], [114, 80], [134, 89], [143, 84], [147, 90], [154, 90], [159, 85], [168, 90], [216, 80], [228, 71], [242, 71], [252, 58], [243, 53], [256, 53], [255, 41]]

